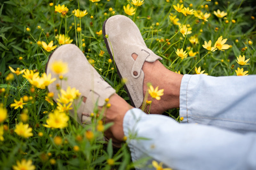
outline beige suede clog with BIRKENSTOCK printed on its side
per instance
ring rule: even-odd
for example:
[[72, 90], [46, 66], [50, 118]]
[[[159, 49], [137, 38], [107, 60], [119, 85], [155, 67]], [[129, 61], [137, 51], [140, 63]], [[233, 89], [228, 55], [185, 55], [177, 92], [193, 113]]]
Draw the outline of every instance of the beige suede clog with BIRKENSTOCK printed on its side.
[[[115, 15], [108, 18], [104, 21], [102, 32], [117, 74], [120, 78], [127, 79], [124, 88], [131, 104], [139, 108], [144, 99], [142, 66], [145, 61], [154, 62], [162, 58], [148, 49], [137, 25], [126, 16]], [[132, 58], [133, 53], [138, 55], [136, 60]]]

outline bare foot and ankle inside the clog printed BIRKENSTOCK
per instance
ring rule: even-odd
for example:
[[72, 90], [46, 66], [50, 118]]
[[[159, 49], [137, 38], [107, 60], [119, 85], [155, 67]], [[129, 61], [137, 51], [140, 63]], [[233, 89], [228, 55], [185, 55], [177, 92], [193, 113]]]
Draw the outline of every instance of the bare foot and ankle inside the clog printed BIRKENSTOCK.
[[[132, 54], [132, 58], [136, 60], [138, 55]], [[180, 107], [180, 83], [183, 75], [174, 73], [159, 61], [154, 62], [145, 61], [142, 67], [145, 74], [143, 81], [143, 94], [144, 97], [148, 90], [147, 83], [150, 82], [154, 89], [164, 89], [164, 95], [160, 100], [151, 98], [149, 95], [147, 100], [151, 100], [150, 113], [162, 114], [168, 109]], [[148, 106], [149, 109], [149, 106]]]

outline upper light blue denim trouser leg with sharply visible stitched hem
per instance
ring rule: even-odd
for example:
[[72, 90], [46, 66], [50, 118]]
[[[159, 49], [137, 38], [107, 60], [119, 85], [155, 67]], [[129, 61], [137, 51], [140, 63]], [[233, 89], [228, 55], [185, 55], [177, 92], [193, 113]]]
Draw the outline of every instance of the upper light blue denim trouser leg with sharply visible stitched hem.
[[182, 123], [256, 131], [256, 75], [212, 77], [185, 74], [180, 87]]

